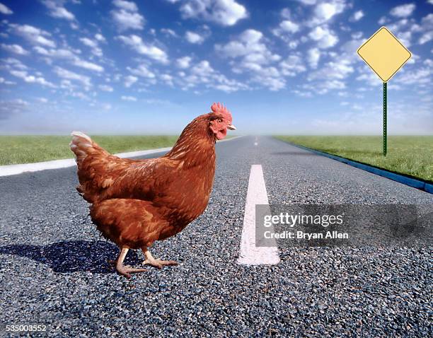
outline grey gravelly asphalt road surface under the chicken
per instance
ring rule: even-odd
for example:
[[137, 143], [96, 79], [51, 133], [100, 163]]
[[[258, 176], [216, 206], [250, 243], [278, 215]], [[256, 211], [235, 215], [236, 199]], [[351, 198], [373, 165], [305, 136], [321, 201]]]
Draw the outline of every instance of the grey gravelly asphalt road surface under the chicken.
[[279, 248], [275, 266], [236, 260], [252, 164], [270, 204], [432, 206], [433, 195], [255, 141], [217, 144], [207, 211], [151, 250], [180, 265], [130, 280], [107, 264], [117, 248], [87, 216], [75, 168], [0, 177], [0, 321], [47, 325], [50, 337], [431, 337], [432, 247]]

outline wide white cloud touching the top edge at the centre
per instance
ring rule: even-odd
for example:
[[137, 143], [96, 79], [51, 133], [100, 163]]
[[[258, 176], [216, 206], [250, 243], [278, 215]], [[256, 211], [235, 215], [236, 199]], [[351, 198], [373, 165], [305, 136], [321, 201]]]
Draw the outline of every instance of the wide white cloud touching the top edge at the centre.
[[248, 16], [246, 8], [234, 0], [185, 0], [180, 12], [183, 18], [202, 18], [224, 26]]

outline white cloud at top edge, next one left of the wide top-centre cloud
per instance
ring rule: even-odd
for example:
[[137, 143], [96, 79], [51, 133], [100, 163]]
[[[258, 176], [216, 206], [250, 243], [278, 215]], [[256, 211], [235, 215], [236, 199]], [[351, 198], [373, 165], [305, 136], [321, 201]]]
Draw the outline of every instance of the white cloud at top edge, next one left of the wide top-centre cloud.
[[137, 5], [132, 1], [114, 0], [117, 8], [113, 9], [111, 17], [119, 30], [142, 30], [144, 17], [138, 12]]

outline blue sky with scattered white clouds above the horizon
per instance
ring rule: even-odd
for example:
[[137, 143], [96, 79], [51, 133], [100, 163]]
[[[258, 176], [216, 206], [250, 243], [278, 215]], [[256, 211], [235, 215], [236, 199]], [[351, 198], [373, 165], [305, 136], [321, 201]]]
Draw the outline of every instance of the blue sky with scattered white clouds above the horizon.
[[433, 0], [0, 0], [0, 134], [178, 134], [214, 102], [238, 134], [381, 134], [381, 26], [412, 53], [388, 133], [433, 134]]

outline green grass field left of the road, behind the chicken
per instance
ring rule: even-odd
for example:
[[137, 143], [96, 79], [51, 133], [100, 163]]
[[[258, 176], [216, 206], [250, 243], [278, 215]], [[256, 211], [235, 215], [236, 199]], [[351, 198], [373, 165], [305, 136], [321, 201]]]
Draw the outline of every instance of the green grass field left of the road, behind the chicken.
[[[173, 146], [178, 136], [91, 136], [110, 151], [122, 153]], [[33, 163], [72, 158], [71, 136], [3, 136], [0, 135], [0, 165]]]

